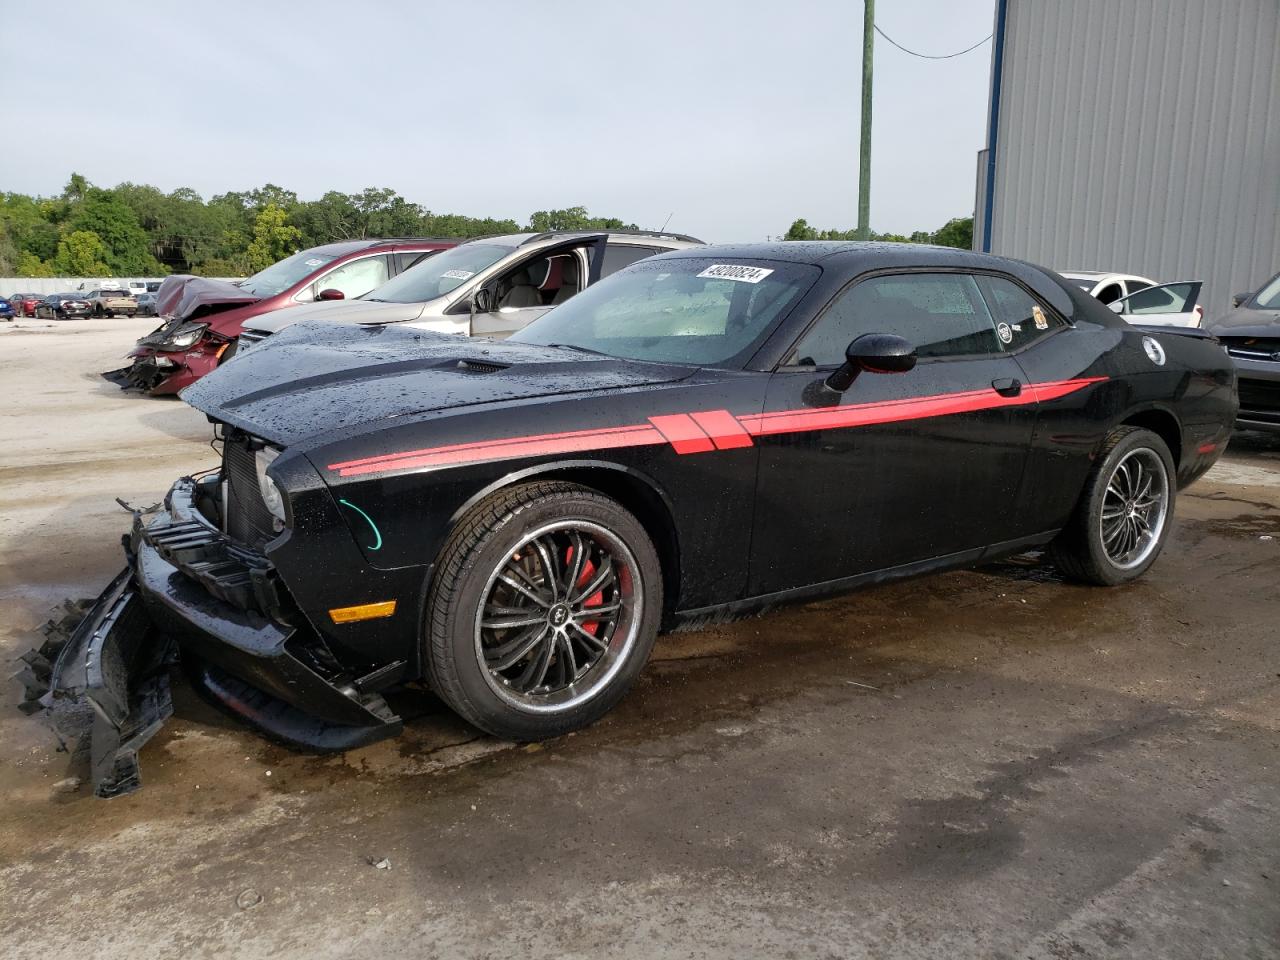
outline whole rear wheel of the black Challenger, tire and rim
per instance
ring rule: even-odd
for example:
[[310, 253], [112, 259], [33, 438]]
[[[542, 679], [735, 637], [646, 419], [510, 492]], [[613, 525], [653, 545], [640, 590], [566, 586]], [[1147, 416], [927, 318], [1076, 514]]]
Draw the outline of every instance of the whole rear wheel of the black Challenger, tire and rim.
[[1050, 545], [1073, 580], [1137, 580], [1169, 539], [1178, 495], [1174, 458], [1151, 430], [1121, 426], [1102, 444], [1071, 520]]

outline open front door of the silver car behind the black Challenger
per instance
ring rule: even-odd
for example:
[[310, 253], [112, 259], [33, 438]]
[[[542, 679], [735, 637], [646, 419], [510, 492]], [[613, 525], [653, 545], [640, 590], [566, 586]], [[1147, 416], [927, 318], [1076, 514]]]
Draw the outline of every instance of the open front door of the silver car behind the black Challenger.
[[[506, 338], [600, 278], [607, 234], [575, 237], [509, 264], [472, 294], [472, 337]], [[570, 287], [571, 285], [571, 287]]]

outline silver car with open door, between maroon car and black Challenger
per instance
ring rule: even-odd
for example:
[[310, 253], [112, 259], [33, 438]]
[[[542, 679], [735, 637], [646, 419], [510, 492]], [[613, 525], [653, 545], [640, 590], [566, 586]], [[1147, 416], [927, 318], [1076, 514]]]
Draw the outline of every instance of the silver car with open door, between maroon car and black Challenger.
[[481, 237], [436, 253], [357, 300], [320, 300], [246, 320], [238, 349], [303, 320], [508, 337], [602, 276], [700, 243], [684, 234], [620, 230]]

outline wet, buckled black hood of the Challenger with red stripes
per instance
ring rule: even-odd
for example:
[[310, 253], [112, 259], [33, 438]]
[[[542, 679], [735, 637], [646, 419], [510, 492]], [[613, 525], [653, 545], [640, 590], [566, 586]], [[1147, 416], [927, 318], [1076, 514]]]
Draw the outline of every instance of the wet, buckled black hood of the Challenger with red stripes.
[[691, 367], [394, 326], [296, 324], [182, 392], [271, 443], [434, 410], [672, 383]]

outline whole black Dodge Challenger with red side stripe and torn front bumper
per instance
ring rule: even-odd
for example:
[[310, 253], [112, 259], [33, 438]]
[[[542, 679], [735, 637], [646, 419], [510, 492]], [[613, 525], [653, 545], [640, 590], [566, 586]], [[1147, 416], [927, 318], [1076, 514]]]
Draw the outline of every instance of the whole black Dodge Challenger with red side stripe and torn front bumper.
[[[659, 630], [1047, 547], [1114, 585], [1221, 454], [1235, 372], [1057, 275], [957, 250], [699, 247], [506, 342], [303, 324], [184, 393], [221, 443], [29, 695], [137, 783], [180, 652], [268, 735], [394, 735], [429, 685], [500, 737], [600, 717]], [[35, 707], [35, 703], [31, 704]]]

